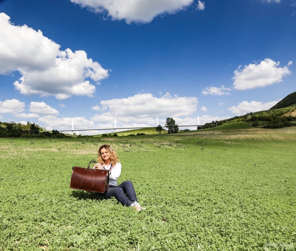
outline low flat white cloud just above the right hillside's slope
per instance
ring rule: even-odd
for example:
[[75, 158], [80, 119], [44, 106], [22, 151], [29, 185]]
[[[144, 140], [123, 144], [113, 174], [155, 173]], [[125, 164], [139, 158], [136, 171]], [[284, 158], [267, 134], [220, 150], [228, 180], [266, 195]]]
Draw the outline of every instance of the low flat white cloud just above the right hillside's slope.
[[237, 106], [231, 106], [228, 108], [228, 111], [231, 111], [234, 114], [237, 114], [238, 116], [244, 115], [248, 112], [256, 112], [256, 111], [265, 111], [273, 107], [276, 103], [280, 101], [271, 101], [267, 103], [258, 102], [258, 101], [242, 101]]

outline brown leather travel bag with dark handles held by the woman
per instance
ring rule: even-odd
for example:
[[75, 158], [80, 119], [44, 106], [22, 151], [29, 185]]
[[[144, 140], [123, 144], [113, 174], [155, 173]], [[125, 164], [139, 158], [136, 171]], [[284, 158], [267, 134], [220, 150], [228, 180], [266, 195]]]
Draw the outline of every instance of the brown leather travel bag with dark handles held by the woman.
[[89, 169], [91, 163], [96, 163], [93, 159], [89, 162], [87, 168], [84, 167], [72, 167], [72, 175], [70, 188], [76, 190], [84, 190], [90, 192], [104, 193], [109, 188], [109, 175], [112, 169]]

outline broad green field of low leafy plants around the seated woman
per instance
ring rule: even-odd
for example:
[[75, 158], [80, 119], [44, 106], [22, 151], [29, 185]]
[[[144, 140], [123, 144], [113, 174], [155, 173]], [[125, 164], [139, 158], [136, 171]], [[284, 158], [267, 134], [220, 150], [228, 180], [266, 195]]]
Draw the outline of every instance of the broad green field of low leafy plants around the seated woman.
[[[294, 250], [296, 128], [0, 139], [0, 250]], [[146, 210], [69, 188], [117, 150]]]

